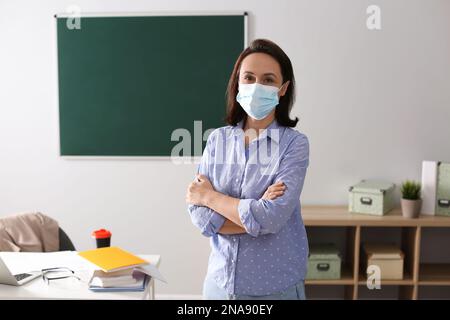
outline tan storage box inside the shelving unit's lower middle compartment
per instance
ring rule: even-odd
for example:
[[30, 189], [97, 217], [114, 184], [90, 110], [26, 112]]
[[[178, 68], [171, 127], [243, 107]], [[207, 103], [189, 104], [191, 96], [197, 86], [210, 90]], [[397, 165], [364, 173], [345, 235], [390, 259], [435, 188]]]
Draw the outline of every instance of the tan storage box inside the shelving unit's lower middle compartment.
[[405, 255], [400, 248], [389, 244], [365, 244], [365, 270], [370, 265], [380, 268], [381, 280], [403, 279], [403, 265]]

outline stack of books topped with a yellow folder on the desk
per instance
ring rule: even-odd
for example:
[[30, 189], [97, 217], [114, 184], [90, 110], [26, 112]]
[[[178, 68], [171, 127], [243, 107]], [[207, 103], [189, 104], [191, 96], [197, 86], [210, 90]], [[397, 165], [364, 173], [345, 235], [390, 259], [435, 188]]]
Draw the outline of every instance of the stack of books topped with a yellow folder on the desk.
[[92, 291], [144, 291], [149, 276], [138, 267], [145, 261], [118, 247], [80, 252], [79, 255], [99, 268], [95, 270], [89, 289]]

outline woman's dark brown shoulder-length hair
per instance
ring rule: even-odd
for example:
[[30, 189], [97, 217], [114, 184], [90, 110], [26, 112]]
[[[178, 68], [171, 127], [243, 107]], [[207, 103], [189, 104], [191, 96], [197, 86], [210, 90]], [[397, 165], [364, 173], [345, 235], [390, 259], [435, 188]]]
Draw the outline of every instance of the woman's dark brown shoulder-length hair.
[[283, 83], [290, 81], [285, 95], [280, 97], [279, 104], [275, 109], [275, 119], [282, 126], [295, 127], [298, 118], [295, 118], [294, 120], [289, 118], [289, 113], [295, 100], [295, 79], [292, 63], [286, 53], [284, 53], [278, 45], [266, 39], [256, 39], [252, 41], [250, 46], [242, 51], [234, 64], [233, 72], [231, 73], [227, 87], [227, 116], [225, 121], [229, 125], [235, 126], [239, 121], [247, 119], [247, 113], [236, 101], [239, 85], [239, 70], [244, 58], [256, 52], [266, 53], [274, 58], [280, 64]]

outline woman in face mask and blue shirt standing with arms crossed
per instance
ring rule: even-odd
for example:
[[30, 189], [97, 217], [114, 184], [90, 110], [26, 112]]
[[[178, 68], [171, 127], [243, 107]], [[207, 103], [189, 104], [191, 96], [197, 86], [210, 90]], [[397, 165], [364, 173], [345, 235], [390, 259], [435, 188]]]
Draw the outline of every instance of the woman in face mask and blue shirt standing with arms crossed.
[[186, 194], [192, 222], [211, 237], [205, 299], [305, 299], [299, 199], [309, 143], [292, 129], [294, 85], [288, 56], [271, 41], [253, 41], [236, 61], [229, 126], [210, 134]]

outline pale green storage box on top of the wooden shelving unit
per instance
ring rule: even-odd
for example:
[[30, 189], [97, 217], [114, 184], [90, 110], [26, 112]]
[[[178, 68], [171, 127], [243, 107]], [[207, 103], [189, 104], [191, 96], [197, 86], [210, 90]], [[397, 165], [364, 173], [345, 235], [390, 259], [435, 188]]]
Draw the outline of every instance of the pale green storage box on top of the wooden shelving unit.
[[392, 210], [395, 185], [385, 181], [362, 180], [349, 189], [349, 211], [382, 216]]

